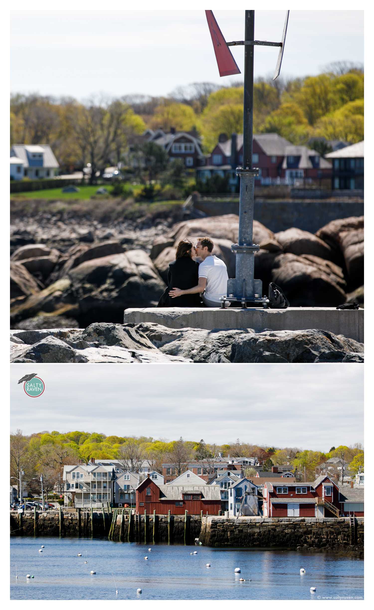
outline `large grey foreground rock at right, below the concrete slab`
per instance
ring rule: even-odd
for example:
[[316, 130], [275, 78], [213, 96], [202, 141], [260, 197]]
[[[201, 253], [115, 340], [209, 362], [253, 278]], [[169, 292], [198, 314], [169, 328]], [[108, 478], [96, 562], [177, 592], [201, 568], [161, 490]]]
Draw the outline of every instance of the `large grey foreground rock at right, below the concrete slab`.
[[242, 335], [232, 345], [231, 362], [261, 362], [262, 353], [278, 354], [287, 362], [315, 362], [323, 352], [362, 353], [364, 346], [331, 332], [264, 331]]

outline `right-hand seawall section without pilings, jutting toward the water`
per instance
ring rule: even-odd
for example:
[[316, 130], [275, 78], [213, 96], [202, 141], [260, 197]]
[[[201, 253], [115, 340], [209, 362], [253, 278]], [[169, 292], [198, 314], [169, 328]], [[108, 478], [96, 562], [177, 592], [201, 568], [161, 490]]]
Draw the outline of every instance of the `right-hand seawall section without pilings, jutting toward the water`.
[[363, 551], [364, 517], [203, 517], [200, 541], [209, 547], [357, 548]]

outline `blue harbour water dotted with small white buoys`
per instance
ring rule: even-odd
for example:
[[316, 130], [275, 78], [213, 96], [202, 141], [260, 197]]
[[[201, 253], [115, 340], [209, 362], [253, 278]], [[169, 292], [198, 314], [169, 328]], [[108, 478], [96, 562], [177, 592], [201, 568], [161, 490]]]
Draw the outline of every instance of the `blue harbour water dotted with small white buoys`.
[[[38, 553], [42, 544], [43, 553]], [[198, 552], [190, 555], [192, 551]], [[242, 570], [239, 575], [234, 574], [236, 567]], [[306, 570], [303, 576], [301, 567]], [[26, 574], [34, 578], [26, 580]], [[311, 586], [316, 587], [315, 594]], [[142, 594], [136, 592], [139, 587]], [[361, 559], [85, 538], [25, 537], [10, 544], [12, 600], [318, 600], [337, 595], [363, 598]]]

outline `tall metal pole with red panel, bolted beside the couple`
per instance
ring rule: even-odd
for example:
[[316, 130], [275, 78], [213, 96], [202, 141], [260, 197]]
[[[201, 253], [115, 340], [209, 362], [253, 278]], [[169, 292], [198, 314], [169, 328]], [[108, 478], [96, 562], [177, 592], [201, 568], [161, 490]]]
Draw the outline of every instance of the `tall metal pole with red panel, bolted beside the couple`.
[[[253, 59], [254, 46], [279, 46], [278, 62], [273, 80], [279, 76], [284, 41], [286, 40], [289, 11], [286, 13], [282, 41], [268, 42], [254, 40], [254, 10], [245, 11], [245, 40], [226, 43], [211, 10], [206, 10], [207, 22], [212, 37], [215, 57], [220, 76], [240, 74], [240, 70], [232, 57], [229, 46], [244, 46], [244, 99], [243, 99], [243, 166], [236, 168], [240, 178], [239, 196], [239, 239], [231, 246], [236, 254], [236, 276], [229, 279], [227, 295], [221, 297], [221, 307], [225, 309], [225, 301], [245, 309], [262, 305], [265, 309], [269, 303], [267, 296], [262, 296], [262, 281], [254, 279], [254, 254], [259, 251], [259, 244], [253, 243], [253, 213], [254, 213], [254, 179], [259, 175], [258, 168], [252, 167], [253, 152]], [[236, 151], [232, 151], [235, 154]]]

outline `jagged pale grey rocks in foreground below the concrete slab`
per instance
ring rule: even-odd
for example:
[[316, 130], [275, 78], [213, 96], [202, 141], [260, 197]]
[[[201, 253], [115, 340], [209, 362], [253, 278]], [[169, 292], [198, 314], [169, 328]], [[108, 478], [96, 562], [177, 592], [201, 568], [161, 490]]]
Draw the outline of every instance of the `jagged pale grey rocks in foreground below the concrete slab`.
[[93, 323], [85, 329], [10, 331], [13, 363], [363, 362], [364, 345], [318, 329], [171, 329], [156, 323]]

